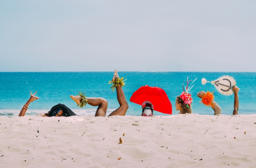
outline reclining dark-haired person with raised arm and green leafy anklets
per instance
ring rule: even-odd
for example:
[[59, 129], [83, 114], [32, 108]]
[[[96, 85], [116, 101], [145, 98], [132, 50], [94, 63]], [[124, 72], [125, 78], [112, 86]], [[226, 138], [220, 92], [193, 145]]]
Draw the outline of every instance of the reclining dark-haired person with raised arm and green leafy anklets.
[[[117, 71], [115, 70], [114, 77], [112, 79], [112, 83], [114, 83], [114, 88], [116, 88], [116, 95], [117, 95], [117, 100], [120, 105], [118, 109], [113, 111], [112, 113], [109, 114], [109, 116], [114, 116], [114, 115], [120, 115], [124, 116], [126, 111], [128, 110], [128, 103], [126, 101], [124, 91], [122, 89], [122, 86], [124, 86], [124, 82], [122, 80], [123, 78], [119, 78]], [[112, 87], [113, 88], [113, 87]], [[114, 90], [114, 89], [113, 89]], [[30, 91], [30, 98], [25, 103], [25, 105], [22, 107], [19, 116], [24, 116], [26, 111], [28, 110], [28, 105], [39, 99], [39, 97], [36, 97], [36, 93], [32, 94]], [[81, 95], [81, 94], [80, 94]], [[70, 97], [78, 104], [80, 107], [85, 106], [86, 103], [92, 105], [92, 106], [98, 106], [95, 116], [106, 116], [107, 108], [108, 108], [108, 102], [106, 99], [101, 98], [101, 97], [85, 97], [83, 94], [81, 96], [73, 96], [70, 95]], [[64, 104], [57, 104], [51, 108], [50, 111], [47, 113], [41, 113], [39, 116], [43, 117], [69, 117], [69, 116], [75, 116], [76, 114], [70, 110], [66, 105]]]

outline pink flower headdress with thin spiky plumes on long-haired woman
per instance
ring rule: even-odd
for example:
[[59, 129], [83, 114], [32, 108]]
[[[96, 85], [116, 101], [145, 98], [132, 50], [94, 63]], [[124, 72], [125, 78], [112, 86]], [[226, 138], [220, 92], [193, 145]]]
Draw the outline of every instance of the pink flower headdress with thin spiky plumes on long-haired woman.
[[[197, 78], [196, 78], [197, 79]], [[195, 79], [195, 80], [196, 80]], [[195, 81], [194, 80], [194, 81]], [[184, 82], [185, 82], [186, 80], [184, 80]], [[192, 81], [192, 80], [188, 80], [188, 78], [187, 78], [187, 87], [185, 88], [185, 90], [184, 90], [184, 87], [183, 87], [183, 85], [184, 85], [184, 82], [182, 83], [182, 88], [183, 88], [183, 92], [181, 93], [181, 95], [180, 95], [180, 98], [183, 100], [183, 102], [184, 102], [184, 104], [186, 104], [186, 106], [189, 108], [189, 106], [190, 106], [190, 104], [192, 104], [192, 97], [191, 97], [191, 94], [189, 94], [189, 91], [191, 90], [191, 88], [193, 88], [193, 86], [194, 85], [192, 85], [192, 83], [194, 82], [192, 82], [190, 85], [189, 85], [189, 87], [188, 87], [188, 83], [190, 82], [190, 81]], [[192, 86], [191, 86], [192, 85]]]

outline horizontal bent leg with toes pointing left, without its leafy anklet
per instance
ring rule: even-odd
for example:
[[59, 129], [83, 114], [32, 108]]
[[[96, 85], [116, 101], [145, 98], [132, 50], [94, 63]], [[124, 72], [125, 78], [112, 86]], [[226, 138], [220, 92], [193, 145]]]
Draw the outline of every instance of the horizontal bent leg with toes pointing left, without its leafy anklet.
[[[81, 96], [73, 96], [70, 95], [71, 99], [73, 99], [77, 104], [80, 104], [82, 97]], [[106, 116], [108, 101], [101, 97], [86, 97], [88, 100], [88, 104], [91, 106], [98, 106], [95, 117], [98, 116]]]

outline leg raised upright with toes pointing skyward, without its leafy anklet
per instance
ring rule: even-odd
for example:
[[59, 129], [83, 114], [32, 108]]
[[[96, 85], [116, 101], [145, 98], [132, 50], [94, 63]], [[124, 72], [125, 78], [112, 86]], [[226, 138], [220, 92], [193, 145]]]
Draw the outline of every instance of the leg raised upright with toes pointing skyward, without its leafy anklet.
[[[117, 70], [115, 69], [115, 73], [112, 81], [115, 81], [116, 78], [119, 78], [119, 76], [118, 76]], [[115, 115], [124, 116], [126, 111], [129, 108], [129, 105], [126, 101], [123, 88], [120, 85], [116, 87], [116, 96], [117, 96], [117, 101], [120, 107], [115, 111], [113, 111], [112, 113], [110, 113], [109, 116], [115, 116]]]

